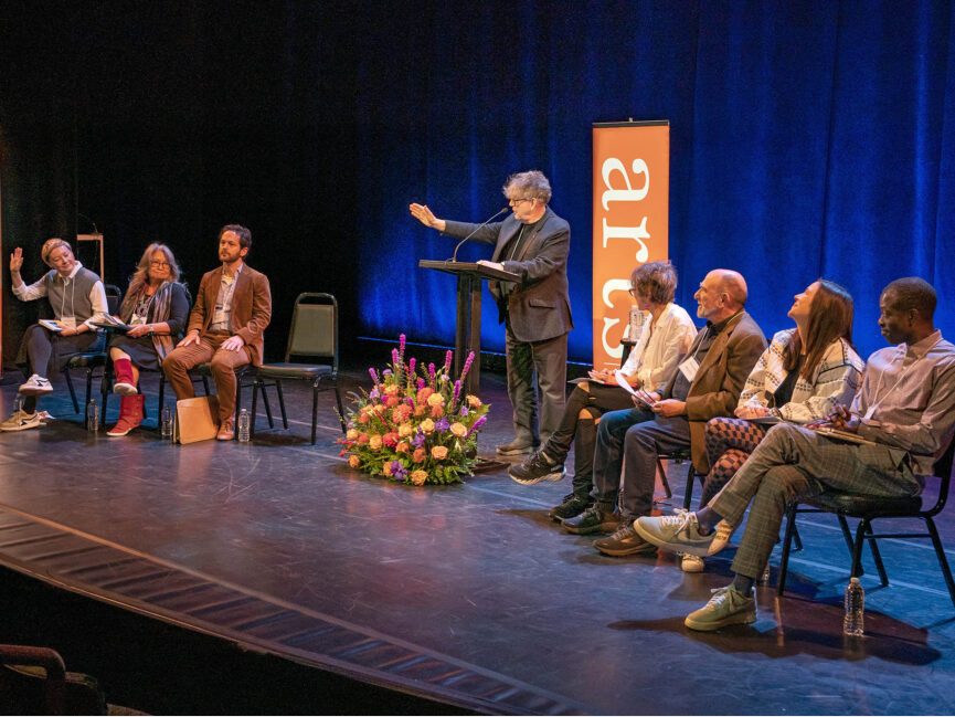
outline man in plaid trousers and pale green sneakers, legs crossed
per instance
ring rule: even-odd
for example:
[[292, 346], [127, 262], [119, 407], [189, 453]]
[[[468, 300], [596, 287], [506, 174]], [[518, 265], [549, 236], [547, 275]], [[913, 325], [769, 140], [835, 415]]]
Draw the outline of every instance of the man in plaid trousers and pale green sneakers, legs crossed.
[[781, 423], [707, 507], [635, 521], [635, 530], [648, 542], [707, 556], [728, 540], [714, 539], [717, 523], [725, 518], [740, 525], [752, 503], [733, 559], [732, 584], [690, 613], [688, 628], [710, 631], [755, 622], [753, 584], [773, 551], [789, 502], [827, 488], [885, 497], [921, 493], [923, 476], [932, 474], [955, 433], [955, 346], [934, 327], [935, 302], [935, 289], [916, 277], [896, 280], [882, 292], [879, 328], [896, 346], [869, 357], [851, 410], [838, 407], [821, 423], [866, 443]]

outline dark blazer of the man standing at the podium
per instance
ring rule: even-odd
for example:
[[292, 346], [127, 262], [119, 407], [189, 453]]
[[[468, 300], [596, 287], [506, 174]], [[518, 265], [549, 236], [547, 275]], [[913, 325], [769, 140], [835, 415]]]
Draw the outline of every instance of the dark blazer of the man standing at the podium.
[[[444, 233], [459, 239], [479, 226], [467, 222], [446, 223]], [[491, 261], [500, 262], [506, 271], [521, 277], [520, 284], [508, 294], [507, 304], [499, 283], [490, 282], [488, 288], [498, 303], [500, 320], [505, 320], [507, 309], [511, 331], [519, 341], [543, 341], [574, 327], [567, 293], [571, 226], [548, 207], [538, 228], [521, 240], [517, 256], [502, 261], [501, 252], [520, 228], [521, 223], [511, 214], [502, 222], [481, 226], [471, 239], [494, 244]]]

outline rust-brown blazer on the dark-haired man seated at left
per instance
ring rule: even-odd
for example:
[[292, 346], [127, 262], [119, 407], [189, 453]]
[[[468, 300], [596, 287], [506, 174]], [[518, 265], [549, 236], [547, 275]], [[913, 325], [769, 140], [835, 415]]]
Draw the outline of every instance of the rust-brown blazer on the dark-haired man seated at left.
[[[189, 314], [187, 334], [193, 329], [204, 336], [215, 313], [215, 299], [222, 284], [222, 266], [202, 275], [195, 305]], [[233, 335], [241, 336], [253, 366], [265, 359], [265, 328], [272, 320], [272, 289], [268, 277], [248, 264], [242, 267], [232, 295]]]

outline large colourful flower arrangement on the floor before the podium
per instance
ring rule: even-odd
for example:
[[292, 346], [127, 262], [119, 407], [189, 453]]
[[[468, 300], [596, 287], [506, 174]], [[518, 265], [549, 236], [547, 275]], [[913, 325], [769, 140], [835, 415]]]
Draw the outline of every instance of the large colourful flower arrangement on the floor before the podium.
[[487, 423], [489, 405], [461, 387], [474, 363], [467, 357], [453, 381], [453, 351], [444, 366], [405, 362], [405, 337], [392, 349], [391, 365], [368, 370], [370, 391], [362, 390], [346, 411], [348, 432], [340, 439], [348, 464], [364, 473], [411, 485], [460, 483], [473, 475], [477, 434]]

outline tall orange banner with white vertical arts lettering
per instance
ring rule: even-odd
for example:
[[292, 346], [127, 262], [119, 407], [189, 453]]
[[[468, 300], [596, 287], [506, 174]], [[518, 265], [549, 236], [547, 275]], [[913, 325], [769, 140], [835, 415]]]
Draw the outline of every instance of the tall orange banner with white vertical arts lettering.
[[594, 125], [594, 366], [620, 363], [630, 273], [669, 256], [670, 123]]

